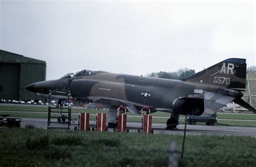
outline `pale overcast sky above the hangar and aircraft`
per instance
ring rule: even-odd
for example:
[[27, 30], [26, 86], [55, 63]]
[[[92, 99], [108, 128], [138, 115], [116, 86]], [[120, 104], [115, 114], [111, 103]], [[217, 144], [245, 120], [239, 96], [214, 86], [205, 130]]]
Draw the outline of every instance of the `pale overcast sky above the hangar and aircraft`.
[[0, 48], [45, 60], [46, 80], [77, 69], [201, 71], [256, 65], [254, 2], [2, 1]]

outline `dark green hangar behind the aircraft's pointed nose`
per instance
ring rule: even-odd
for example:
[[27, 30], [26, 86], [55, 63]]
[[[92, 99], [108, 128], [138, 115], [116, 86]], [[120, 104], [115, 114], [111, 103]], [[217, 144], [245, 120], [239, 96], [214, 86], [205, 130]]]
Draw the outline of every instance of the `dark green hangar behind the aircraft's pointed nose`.
[[46, 62], [0, 50], [0, 99], [43, 100], [25, 90], [33, 82], [45, 81]]

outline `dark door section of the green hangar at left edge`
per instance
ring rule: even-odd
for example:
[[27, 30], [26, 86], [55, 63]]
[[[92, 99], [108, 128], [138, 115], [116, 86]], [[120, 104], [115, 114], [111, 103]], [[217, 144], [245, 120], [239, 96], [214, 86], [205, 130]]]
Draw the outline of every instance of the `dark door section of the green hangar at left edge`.
[[0, 64], [0, 99], [19, 100], [20, 64]]

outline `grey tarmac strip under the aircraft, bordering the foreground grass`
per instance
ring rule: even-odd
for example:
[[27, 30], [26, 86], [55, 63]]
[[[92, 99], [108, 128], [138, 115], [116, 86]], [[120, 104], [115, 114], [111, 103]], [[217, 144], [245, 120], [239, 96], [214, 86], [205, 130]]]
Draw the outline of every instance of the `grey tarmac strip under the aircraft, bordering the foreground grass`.
[[[32, 124], [37, 128], [47, 129], [47, 119], [31, 119], [22, 118], [22, 127], [27, 124]], [[95, 121], [90, 121], [90, 124], [95, 124]], [[52, 124], [54, 126], [54, 124]], [[57, 124], [55, 124], [57, 125]], [[138, 129], [141, 128], [141, 123], [139, 122], [127, 122], [127, 129], [132, 133], [137, 133]], [[63, 126], [58, 124], [58, 126]], [[71, 130], [73, 130], [77, 125], [72, 125]], [[165, 129], [166, 124], [164, 123], [153, 123], [152, 128], [154, 134], [176, 134], [183, 135], [185, 124], [180, 124], [177, 126], [177, 130], [167, 130]], [[113, 128], [109, 128], [108, 131], [113, 131]], [[254, 127], [231, 127], [231, 126], [201, 126], [201, 125], [190, 125], [187, 124], [187, 135], [235, 135], [235, 136], [252, 136], [256, 137], [256, 128]]]

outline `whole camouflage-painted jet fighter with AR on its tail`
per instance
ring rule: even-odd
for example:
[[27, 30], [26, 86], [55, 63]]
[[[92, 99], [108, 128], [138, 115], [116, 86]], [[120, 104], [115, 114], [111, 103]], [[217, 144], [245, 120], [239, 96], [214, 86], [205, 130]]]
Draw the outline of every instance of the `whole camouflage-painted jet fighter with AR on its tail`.
[[245, 89], [246, 59], [231, 58], [219, 62], [182, 81], [148, 78], [104, 71], [81, 70], [71, 72], [57, 80], [36, 82], [26, 89], [41, 95], [87, 102], [87, 107], [98, 104], [109, 108], [107, 122], [116, 126], [117, 108], [120, 105], [132, 113], [140, 114], [144, 106], [152, 112], [167, 112], [167, 127], [179, 123], [179, 115], [214, 114], [227, 103], [238, 105], [256, 113], [241, 99]]

